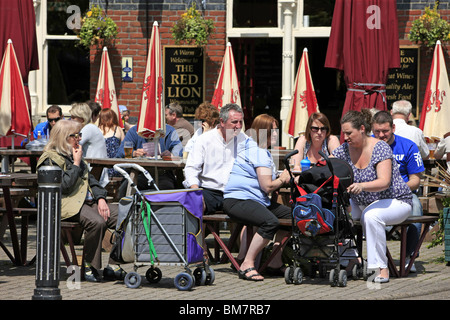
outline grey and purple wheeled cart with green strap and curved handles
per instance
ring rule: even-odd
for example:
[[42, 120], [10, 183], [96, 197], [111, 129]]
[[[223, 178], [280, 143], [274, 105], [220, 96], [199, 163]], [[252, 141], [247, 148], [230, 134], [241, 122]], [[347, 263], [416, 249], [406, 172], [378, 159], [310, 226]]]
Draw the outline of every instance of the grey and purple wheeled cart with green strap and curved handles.
[[[123, 168], [141, 171], [148, 185], [156, 191], [141, 192]], [[116, 164], [114, 169], [122, 174], [136, 191], [119, 201], [119, 216], [111, 257], [118, 263], [134, 262], [134, 272], [126, 274], [128, 288], [137, 288], [141, 276], [137, 269], [149, 265], [145, 274], [149, 283], [162, 278], [155, 265], [182, 265], [174, 284], [178, 290], [190, 290], [194, 284], [212, 284], [214, 270], [203, 259], [202, 239], [202, 191], [182, 189], [160, 191], [147, 170], [137, 164]], [[194, 272], [188, 265], [199, 263]]]

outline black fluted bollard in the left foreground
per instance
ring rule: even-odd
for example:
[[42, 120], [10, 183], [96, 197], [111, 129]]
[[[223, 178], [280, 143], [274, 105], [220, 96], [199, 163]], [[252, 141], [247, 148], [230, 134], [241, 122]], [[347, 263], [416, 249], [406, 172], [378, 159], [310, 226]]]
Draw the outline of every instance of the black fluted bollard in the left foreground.
[[61, 300], [60, 235], [61, 235], [62, 170], [43, 166], [38, 170], [38, 221], [36, 245], [36, 289], [33, 300]]

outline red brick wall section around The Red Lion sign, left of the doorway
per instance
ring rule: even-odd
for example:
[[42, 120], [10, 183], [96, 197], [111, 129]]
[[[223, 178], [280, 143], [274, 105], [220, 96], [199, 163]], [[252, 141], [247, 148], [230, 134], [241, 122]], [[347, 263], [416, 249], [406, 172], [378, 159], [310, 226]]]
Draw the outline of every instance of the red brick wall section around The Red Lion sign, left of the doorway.
[[[174, 45], [170, 28], [174, 21], [186, 11], [191, 1], [163, 0], [114, 0], [101, 1], [101, 6], [107, 10], [119, 27], [116, 45], [108, 48], [118, 103], [126, 105], [132, 116], [138, 116], [142, 83], [145, 75], [145, 65], [148, 55], [148, 41], [150, 41], [153, 22], [160, 26], [161, 45]], [[96, 3], [98, 3], [96, 1]], [[206, 63], [206, 92], [205, 99], [211, 100], [214, 85], [217, 80], [222, 58], [225, 53], [225, 0], [208, 0], [202, 8], [201, 1], [197, 1], [197, 8], [204, 16], [215, 21], [216, 33], [210, 38], [205, 48]], [[95, 96], [97, 79], [100, 69], [101, 48], [92, 48], [91, 60], [91, 98]], [[122, 56], [133, 57], [133, 81], [122, 82]]]

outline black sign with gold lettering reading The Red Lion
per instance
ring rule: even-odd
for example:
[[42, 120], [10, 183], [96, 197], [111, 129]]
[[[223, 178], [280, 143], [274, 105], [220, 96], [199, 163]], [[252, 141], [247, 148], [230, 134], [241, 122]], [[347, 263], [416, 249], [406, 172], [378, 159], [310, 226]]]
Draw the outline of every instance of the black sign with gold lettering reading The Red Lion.
[[205, 97], [205, 58], [197, 46], [164, 46], [164, 102], [179, 102], [193, 116]]

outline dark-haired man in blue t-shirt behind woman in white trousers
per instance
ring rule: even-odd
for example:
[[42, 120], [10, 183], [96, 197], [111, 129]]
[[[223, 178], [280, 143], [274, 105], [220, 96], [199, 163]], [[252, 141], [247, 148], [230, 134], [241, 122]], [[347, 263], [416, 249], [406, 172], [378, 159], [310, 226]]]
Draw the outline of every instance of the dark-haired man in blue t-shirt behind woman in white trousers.
[[[416, 191], [420, 186], [420, 177], [425, 171], [422, 156], [417, 145], [404, 137], [396, 136], [395, 125], [392, 116], [387, 111], [379, 111], [372, 118], [372, 132], [375, 138], [385, 141], [392, 149], [395, 159], [400, 166], [400, 174], [403, 180], [413, 192], [413, 216], [422, 216], [423, 210]], [[419, 241], [422, 224], [415, 223], [408, 228], [406, 252], [407, 257], [414, 253]], [[408, 255], [409, 254], [409, 255]], [[407, 264], [409, 259], [407, 259]], [[411, 272], [415, 272], [414, 265]]]

